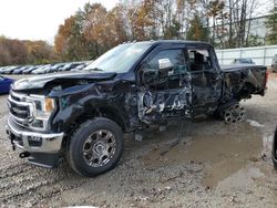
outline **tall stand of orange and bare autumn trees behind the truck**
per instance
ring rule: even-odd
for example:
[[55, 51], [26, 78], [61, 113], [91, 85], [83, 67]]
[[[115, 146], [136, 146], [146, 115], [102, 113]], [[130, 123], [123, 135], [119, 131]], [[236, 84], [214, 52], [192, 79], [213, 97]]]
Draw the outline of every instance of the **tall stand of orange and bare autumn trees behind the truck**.
[[188, 39], [217, 48], [255, 44], [250, 21], [257, 0], [120, 0], [107, 11], [85, 3], [55, 37], [61, 60], [95, 59], [126, 41]]

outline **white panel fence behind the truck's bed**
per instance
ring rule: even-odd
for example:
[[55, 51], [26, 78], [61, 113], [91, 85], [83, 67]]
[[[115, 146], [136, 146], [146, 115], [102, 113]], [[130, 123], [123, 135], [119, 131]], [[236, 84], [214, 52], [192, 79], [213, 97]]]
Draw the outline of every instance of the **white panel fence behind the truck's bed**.
[[269, 66], [277, 54], [277, 45], [216, 50], [216, 54], [223, 65], [230, 64], [234, 59], [249, 58], [257, 65]]

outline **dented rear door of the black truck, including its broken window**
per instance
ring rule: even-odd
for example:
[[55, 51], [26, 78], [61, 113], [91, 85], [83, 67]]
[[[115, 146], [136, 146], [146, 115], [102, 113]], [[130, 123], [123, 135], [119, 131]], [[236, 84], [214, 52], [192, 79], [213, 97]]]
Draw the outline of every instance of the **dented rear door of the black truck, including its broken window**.
[[222, 73], [214, 49], [187, 48], [188, 69], [192, 76], [193, 117], [213, 114], [222, 96]]

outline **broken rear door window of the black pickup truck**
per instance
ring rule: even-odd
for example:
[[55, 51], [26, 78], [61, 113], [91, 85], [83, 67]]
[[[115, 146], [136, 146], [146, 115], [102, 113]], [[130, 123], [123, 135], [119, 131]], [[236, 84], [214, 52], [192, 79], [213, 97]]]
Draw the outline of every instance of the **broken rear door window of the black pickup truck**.
[[212, 59], [207, 49], [189, 49], [188, 62], [191, 71], [212, 70]]

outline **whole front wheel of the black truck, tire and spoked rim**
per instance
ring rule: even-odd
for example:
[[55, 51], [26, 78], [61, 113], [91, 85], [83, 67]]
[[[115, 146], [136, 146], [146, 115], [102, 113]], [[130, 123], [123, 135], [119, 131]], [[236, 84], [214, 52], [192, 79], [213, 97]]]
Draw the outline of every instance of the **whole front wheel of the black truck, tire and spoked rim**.
[[84, 122], [73, 134], [68, 150], [69, 163], [82, 176], [96, 176], [115, 167], [123, 148], [120, 126], [98, 117]]

